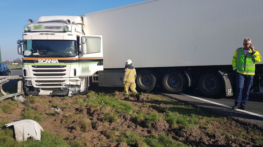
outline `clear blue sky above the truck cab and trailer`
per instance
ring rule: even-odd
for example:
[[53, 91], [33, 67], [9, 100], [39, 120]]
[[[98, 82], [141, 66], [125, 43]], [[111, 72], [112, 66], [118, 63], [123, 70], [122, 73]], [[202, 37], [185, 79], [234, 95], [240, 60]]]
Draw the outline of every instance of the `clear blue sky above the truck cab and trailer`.
[[22, 39], [28, 19], [37, 21], [39, 16], [82, 15], [119, 7], [143, 0], [1, 0], [0, 1], [0, 47], [2, 61], [22, 58], [17, 54], [17, 40]]

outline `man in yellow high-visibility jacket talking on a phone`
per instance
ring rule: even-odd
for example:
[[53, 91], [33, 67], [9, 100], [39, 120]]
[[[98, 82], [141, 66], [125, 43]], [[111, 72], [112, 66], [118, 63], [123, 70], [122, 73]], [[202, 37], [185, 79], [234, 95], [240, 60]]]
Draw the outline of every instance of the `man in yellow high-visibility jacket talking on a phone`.
[[262, 57], [252, 46], [251, 39], [245, 38], [244, 47], [236, 49], [232, 58], [233, 70], [236, 73], [236, 100], [232, 109], [246, 110], [249, 91], [255, 75], [255, 62], [260, 62]]

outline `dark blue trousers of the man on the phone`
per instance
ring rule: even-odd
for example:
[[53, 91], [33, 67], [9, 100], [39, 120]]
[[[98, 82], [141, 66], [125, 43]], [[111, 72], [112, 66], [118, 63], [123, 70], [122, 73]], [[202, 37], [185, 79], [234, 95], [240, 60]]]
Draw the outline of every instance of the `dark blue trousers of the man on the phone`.
[[253, 84], [254, 75], [243, 75], [236, 72], [236, 100], [235, 104], [245, 106], [248, 100], [250, 88]]

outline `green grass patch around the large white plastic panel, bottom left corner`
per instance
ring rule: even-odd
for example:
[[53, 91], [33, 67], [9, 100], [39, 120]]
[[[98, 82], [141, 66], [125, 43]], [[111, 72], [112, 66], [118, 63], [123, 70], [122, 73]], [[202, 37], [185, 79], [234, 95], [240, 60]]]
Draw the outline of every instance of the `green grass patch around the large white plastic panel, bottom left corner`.
[[[0, 122], [0, 126], [4, 126], [8, 122]], [[12, 127], [0, 129], [0, 146], [13, 147], [13, 146], [23, 146], [23, 147], [69, 147], [67, 142], [64, 140], [63, 136], [54, 136], [48, 131], [41, 132], [41, 141], [32, 140], [30, 138], [25, 142], [17, 142], [13, 139], [13, 129]]]

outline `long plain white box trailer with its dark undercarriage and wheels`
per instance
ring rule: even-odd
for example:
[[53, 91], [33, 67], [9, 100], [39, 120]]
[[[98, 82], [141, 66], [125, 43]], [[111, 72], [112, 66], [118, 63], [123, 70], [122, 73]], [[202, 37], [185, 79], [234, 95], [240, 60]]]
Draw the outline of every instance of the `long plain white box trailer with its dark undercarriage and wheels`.
[[[84, 24], [79, 26], [83, 30], [79, 37], [103, 36], [103, 56], [96, 57], [103, 57], [100, 64], [104, 68], [93, 70], [98, 72], [89, 82], [121, 87], [124, 61], [131, 59], [137, 71], [137, 88], [141, 90], [151, 91], [159, 84], [170, 93], [198, 88], [208, 97], [222, 93], [231, 96], [235, 87], [231, 59], [235, 50], [242, 47], [244, 38], [250, 37], [253, 46], [262, 52], [262, 6], [260, 0], [249, 4], [246, 0], [148, 0], [83, 14], [79, 16]], [[33, 39], [27, 37], [23, 39]], [[43, 39], [48, 40], [45, 35]], [[75, 40], [83, 43], [82, 39]], [[76, 47], [78, 58], [88, 55], [88, 49], [84, 53], [82, 46]], [[263, 78], [259, 80], [262, 69], [261, 63], [256, 64], [254, 92], [263, 83]]]

